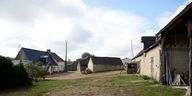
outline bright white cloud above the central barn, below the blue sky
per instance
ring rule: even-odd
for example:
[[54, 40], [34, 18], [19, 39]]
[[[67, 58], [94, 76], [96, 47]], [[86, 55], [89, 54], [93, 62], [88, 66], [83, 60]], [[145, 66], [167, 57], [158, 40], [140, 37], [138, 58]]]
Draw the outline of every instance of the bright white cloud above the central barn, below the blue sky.
[[154, 31], [143, 31], [149, 25], [145, 18], [107, 8], [90, 10], [81, 24], [94, 34], [93, 41], [100, 42], [101, 47], [88, 51], [101, 56], [131, 57], [131, 40], [134, 53], [138, 53], [140, 37], [154, 35]]

